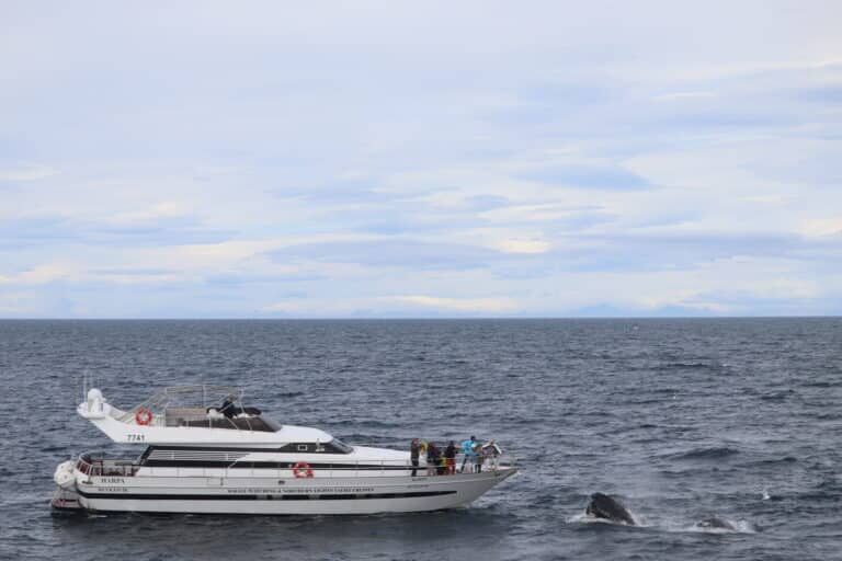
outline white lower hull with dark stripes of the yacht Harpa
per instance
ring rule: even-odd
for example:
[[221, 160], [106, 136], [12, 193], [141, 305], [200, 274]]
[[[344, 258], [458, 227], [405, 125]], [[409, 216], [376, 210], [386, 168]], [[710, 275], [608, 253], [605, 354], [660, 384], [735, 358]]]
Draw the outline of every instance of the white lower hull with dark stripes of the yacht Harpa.
[[470, 504], [515, 468], [426, 477], [276, 479], [270, 477], [102, 478], [77, 482], [80, 505], [95, 512], [252, 515], [376, 514]]

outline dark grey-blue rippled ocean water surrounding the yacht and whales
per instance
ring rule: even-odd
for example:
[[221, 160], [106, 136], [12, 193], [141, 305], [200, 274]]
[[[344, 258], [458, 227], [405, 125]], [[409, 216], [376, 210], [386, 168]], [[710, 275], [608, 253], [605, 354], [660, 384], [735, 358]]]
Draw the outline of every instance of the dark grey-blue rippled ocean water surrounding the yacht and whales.
[[[243, 386], [356, 444], [493, 437], [522, 472], [428, 514], [55, 516], [55, 466], [117, 448], [83, 373], [124, 407]], [[842, 559], [841, 319], [0, 321], [0, 379], [3, 559]], [[585, 519], [595, 491], [642, 526]]]

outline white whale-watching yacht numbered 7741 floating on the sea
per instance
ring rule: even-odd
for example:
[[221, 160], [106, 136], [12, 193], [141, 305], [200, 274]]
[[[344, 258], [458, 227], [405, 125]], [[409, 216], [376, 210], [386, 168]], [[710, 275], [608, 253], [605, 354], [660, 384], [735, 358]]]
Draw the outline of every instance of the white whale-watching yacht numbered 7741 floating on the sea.
[[91, 389], [77, 412], [115, 443], [146, 448], [136, 459], [88, 453], [60, 463], [52, 502], [60, 510], [437, 511], [467, 505], [517, 471], [493, 440], [483, 449], [475, 446], [464, 469], [462, 454], [455, 469], [425, 466], [424, 454], [416, 467], [409, 450], [351, 446], [317, 428], [277, 424], [242, 407], [242, 393], [228, 387], [166, 388], [127, 411]]

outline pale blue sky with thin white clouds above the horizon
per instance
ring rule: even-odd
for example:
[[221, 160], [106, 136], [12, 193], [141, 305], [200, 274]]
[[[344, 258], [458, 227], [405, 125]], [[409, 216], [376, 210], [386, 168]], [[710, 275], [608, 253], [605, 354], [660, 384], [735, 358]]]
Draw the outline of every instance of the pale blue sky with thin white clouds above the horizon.
[[842, 314], [840, 22], [1, 2], [0, 318]]

